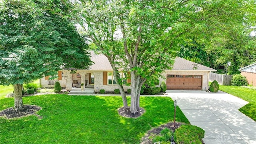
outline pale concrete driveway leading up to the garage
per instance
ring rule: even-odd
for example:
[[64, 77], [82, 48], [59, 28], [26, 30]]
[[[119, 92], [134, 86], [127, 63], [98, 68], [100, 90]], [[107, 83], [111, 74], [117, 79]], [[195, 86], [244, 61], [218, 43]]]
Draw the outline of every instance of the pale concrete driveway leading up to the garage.
[[256, 144], [256, 122], [239, 112], [248, 102], [225, 92], [166, 90], [192, 125], [205, 130], [206, 144]]

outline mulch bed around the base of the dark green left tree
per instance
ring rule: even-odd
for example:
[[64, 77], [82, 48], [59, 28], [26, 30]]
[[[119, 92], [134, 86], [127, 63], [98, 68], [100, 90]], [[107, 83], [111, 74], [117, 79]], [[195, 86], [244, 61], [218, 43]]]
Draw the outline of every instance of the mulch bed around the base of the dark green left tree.
[[14, 108], [8, 108], [5, 110], [2, 110], [0, 112], [0, 116], [6, 117], [6, 118], [20, 118], [23, 116], [29, 116], [29, 115], [36, 115], [39, 119], [42, 117], [36, 114], [38, 110], [41, 110], [42, 108], [39, 106], [33, 106], [33, 105], [24, 105], [24, 108], [20, 110], [15, 110]]

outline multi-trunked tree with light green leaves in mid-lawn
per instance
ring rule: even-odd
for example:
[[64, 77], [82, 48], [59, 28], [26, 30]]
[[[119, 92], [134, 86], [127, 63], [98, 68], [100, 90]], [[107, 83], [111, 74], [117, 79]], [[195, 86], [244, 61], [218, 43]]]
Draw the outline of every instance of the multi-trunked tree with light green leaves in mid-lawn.
[[[130, 111], [138, 112], [140, 89], [146, 80], [171, 69], [180, 44], [190, 38], [210, 41], [213, 32], [244, 17], [248, 0], [81, 0], [74, 1], [80, 33], [109, 60], [127, 100], [119, 76], [130, 71]], [[249, 13], [247, 13], [249, 14]], [[250, 13], [251, 14], [251, 13]]]

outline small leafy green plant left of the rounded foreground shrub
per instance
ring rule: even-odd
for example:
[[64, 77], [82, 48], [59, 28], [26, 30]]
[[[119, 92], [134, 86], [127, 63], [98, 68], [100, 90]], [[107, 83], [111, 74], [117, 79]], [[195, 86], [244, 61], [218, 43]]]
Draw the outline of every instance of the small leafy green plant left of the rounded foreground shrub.
[[153, 138], [153, 142], [168, 142], [164, 144], [170, 144], [170, 141], [172, 139], [172, 136], [174, 136], [174, 133], [171, 132], [168, 128], [164, 128], [160, 131], [160, 135]]

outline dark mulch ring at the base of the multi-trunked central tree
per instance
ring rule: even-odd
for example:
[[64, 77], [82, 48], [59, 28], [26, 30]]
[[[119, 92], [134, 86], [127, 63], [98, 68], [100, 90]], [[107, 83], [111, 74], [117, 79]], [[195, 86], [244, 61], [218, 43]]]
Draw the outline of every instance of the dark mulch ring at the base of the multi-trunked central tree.
[[118, 114], [120, 116], [123, 116], [123, 117], [126, 117], [126, 118], [138, 118], [139, 116], [141, 116], [142, 114], [145, 113], [144, 108], [139, 108], [137, 110], [138, 110], [138, 112], [134, 114], [134, 113], [131, 113], [130, 106], [128, 106], [127, 109], [122, 107], [122, 108], [118, 109]]

